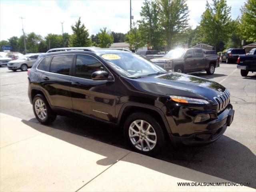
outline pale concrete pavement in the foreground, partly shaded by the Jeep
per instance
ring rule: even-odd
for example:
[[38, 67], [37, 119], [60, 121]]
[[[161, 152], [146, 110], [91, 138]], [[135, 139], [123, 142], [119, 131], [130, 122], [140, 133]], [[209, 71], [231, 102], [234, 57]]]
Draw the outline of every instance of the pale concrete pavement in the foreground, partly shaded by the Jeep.
[[228, 181], [0, 114], [0, 191], [255, 191], [177, 182]]

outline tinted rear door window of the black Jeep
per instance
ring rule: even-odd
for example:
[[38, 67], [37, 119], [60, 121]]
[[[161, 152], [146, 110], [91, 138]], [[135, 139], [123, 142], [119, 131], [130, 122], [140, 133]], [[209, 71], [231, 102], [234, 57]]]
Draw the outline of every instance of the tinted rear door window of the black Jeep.
[[50, 72], [69, 75], [73, 55], [54, 56], [50, 65]]

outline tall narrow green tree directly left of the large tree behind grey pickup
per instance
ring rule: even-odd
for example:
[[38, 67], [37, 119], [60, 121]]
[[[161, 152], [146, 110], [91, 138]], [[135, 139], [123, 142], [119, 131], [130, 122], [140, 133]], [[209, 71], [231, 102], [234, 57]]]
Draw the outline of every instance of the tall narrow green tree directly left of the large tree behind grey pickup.
[[156, 1], [145, 0], [140, 11], [142, 20], [138, 21], [139, 30], [144, 37], [145, 44], [159, 50], [163, 44], [160, 25], [160, 7]]

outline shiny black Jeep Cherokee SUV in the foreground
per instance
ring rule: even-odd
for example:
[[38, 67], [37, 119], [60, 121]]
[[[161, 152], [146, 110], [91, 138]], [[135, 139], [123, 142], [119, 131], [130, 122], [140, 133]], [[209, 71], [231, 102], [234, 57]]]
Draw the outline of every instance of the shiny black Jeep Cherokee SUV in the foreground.
[[[54, 49], [28, 72], [28, 96], [39, 122], [77, 114], [121, 128], [129, 145], [155, 154], [174, 144], [214, 142], [230, 126], [230, 92], [196, 76], [167, 72], [123, 50]], [[166, 137], [168, 136], [168, 137]]]

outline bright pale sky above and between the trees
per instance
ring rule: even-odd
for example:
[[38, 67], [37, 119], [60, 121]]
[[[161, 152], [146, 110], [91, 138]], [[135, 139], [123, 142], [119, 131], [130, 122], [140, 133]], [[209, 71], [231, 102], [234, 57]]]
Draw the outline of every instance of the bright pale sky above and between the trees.
[[[209, 1], [211, 2], [211, 1]], [[232, 6], [231, 16], [236, 19], [244, 0], [228, 0]], [[132, 0], [134, 22], [140, 20], [140, 8], [143, 0]], [[189, 23], [195, 28], [205, 10], [206, 0], [188, 0], [190, 10]], [[114, 32], [126, 33], [129, 30], [129, 0], [1, 0], [0, 1], [0, 40], [22, 35], [19, 17], [24, 17], [25, 33], [35, 32], [41, 36], [48, 33], [72, 34], [71, 25], [81, 16], [82, 22], [90, 34], [96, 34], [100, 28], [107, 27]]]

